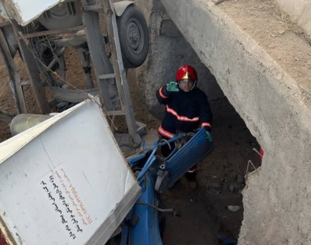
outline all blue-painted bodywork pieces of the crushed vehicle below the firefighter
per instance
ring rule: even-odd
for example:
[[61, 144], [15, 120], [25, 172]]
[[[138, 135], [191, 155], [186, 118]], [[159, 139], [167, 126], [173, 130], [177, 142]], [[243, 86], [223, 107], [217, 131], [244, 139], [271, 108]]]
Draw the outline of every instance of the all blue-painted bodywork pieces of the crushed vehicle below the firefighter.
[[[176, 139], [183, 137], [184, 135], [177, 136], [176, 138], [169, 140], [169, 142], [173, 142]], [[154, 154], [156, 153], [157, 148], [164, 144], [165, 143], [160, 143], [153, 150], [149, 150], [146, 154], [141, 154], [128, 159], [131, 166], [137, 166], [141, 165], [142, 161], [145, 161], [144, 159], [148, 158], [143, 165], [141, 172], [137, 176], [137, 179], [140, 181], [140, 186], [142, 187], [142, 194], [139, 197], [138, 202], [158, 206], [154, 190], [154, 181], [156, 179], [158, 166], [154, 166], [156, 161]], [[211, 153], [213, 149], [213, 144], [206, 139], [204, 128], [200, 129], [166, 162], [165, 170], [169, 171], [170, 174], [168, 186], [172, 185], [180, 178], [180, 176], [186, 173], [188, 169], [197, 164], [200, 159]], [[135, 204], [132, 211], [138, 215], [139, 221], [134, 227], [129, 229], [129, 239], [131, 244], [162, 245], [159, 231], [158, 211], [150, 206], [142, 204]], [[122, 234], [122, 244], [126, 241], [126, 233], [127, 230], [124, 230]]]

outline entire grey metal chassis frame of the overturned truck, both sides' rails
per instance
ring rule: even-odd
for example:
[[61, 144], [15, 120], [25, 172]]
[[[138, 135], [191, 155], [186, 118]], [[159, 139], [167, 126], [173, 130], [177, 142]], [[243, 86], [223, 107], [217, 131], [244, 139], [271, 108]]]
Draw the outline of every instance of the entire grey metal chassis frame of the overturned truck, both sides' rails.
[[[92, 61], [100, 90], [100, 100], [104, 106], [104, 109], [107, 111], [108, 115], [112, 116], [124, 115], [128, 126], [128, 132], [132, 137], [133, 142], [135, 144], [140, 144], [141, 138], [138, 132], [145, 132], [146, 130], [143, 130], [144, 125], [142, 123], [138, 123], [139, 130], [137, 131], [137, 122], [135, 121], [134, 111], [129, 93], [128, 81], [126, 77], [126, 71], [123, 66], [123, 59], [116, 21], [117, 14], [114, 9], [114, 3], [111, 0], [100, 0], [101, 4], [96, 4], [95, 0], [80, 0], [80, 3], [84, 9], [84, 11], [82, 12], [83, 25], [81, 26], [56, 29], [56, 30], [39, 31], [34, 33], [23, 33], [22, 30], [20, 30], [19, 26], [17, 25], [16, 21], [14, 20], [12, 21], [14, 34], [21, 52], [21, 58], [25, 63], [27, 73], [29, 76], [28, 82], [31, 84], [34, 90], [35, 99], [39, 106], [40, 113], [42, 114], [49, 113], [50, 108], [45, 95], [43, 82], [40, 80], [39, 77], [40, 64], [38, 64], [38, 61], [34, 57], [30, 48], [28, 47], [27, 38], [51, 34], [70, 33], [77, 30], [84, 30], [85, 31], [84, 38], [86, 39], [86, 42], [88, 44], [89, 53], [85, 52], [87, 50], [82, 50], [82, 47], [80, 46], [75, 47], [80, 55], [80, 59], [83, 62], [83, 68], [85, 69], [85, 71], [89, 70], [90, 60]], [[133, 2], [125, 1], [121, 6], [123, 11], [128, 5], [132, 3]], [[103, 37], [100, 31], [99, 12], [104, 12], [105, 14], [112, 64], [110, 63], [109, 57], [104, 50], [106, 39], [105, 37]], [[3, 25], [9, 25], [9, 23], [4, 23]], [[77, 39], [77, 41], [79, 42], [80, 40], [79, 38], [81, 39], [81, 37], [75, 37], [73, 39]], [[65, 46], [71, 46], [69, 41], [70, 39], [68, 39], [67, 42], [66, 40], [56, 40], [55, 43], [59, 45], [58, 48], [61, 48]], [[81, 39], [80, 41], [83, 40]], [[12, 56], [8, 57], [7, 55], [8, 47], [5, 47], [4, 44], [7, 45], [6, 39], [3, 33], [0, 32], [0, 48], [1, 48], [0, 51], [2, 52], [2, 58], [4, 59], [4, 63], [6, 64], [7, 69], [9, 71], [10, 84], [14, 98], [16, 98], [15, 102], [18, 108], [17, 112], [26, 113], [26, 104], [22, 93], [22, 85], [26, 83], [22, 83], [20, 81], [16, 67], [12, 66], [11, 64], [11, 62], [13, 62]], [[64, 48], [59, 50], [60, 51], [58, 57], [54, 58], [52, 61], [54, 63], [57, 61], [57, 59], [63, 61], [62, 53], [64, 51]], [[15, 65], [14, 62], [13, 65]], [[65, 63], [61, 62], [60, 66], [61, 66], [61, 77], [64, 78]], [[88, 87], [92, 88], [93, 83], [91, 79], [91, 72], [86, 74], [86, 81]], [[12, 84], [14, 84], [14, 86], [12, 86]], [[120, 104], [121, 110], [115, 110], [116, 109], [115, 105], [117, 104]]]

